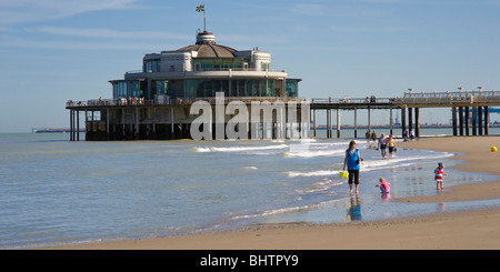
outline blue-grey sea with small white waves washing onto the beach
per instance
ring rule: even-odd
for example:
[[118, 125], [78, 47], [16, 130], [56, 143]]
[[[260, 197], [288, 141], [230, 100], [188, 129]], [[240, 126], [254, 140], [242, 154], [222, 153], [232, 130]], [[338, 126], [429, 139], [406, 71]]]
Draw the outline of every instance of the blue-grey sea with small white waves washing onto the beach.
[[[449, 132], [422, 129], [421, 135]], [[448, 173], [444, 190], [498, 177], [452, 170], [461, 163], [451, 159], [454, 152], [399, 148], [393, 158], [382, 159], [373, 143], [353, 139], [352, 130], [341, 131], [339, 139], [321, 133], [302, 140], [114, 142], [69, 141], [66, 133], [0, 133], [0, 249], [500, 206], [499, 200], [394, 201], [438, 194], [438, 162]], [[351, 140], [363, 158], [360, 193], [353, 195], [347, 179], [339, 178]], [[380, 177], [391, 184], [390, 194], [376, 188]]]

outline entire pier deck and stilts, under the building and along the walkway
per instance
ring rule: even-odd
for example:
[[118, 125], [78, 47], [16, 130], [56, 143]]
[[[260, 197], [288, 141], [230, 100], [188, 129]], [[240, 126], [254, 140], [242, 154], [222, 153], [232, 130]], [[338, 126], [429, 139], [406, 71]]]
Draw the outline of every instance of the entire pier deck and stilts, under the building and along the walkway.
[[[206, 101], [216, 107], [216, 98], [210, 99], [177, 99], [166, 101], [154, 100], [89, 100], [73, 102], [68, 101], [67, 109], [70, 110], [70, 140], [79, 139], [79, 115], [84, 114], [86, 140], [171, 140], [191, 139], [191, 123], [198, 117], [190, 113], [190, 108], [196, 101]], [[310, 131], [312, 137], [317, 135], [318, 122], [317, 112], [327, 112], [327, 138], [333, 138], [333, 111], [336, 112], [337, 138], [341, 137], [341, 111], [354, 112], [354, 138], [358, 138], [358, 110], [368, 110], [368, 130], [371, 129], [371, 112], [374, 110], [390, 111], [390, 133], [393, 129], [401, 129], [401, 133], [413, 130], [414, 135], [420, 135], [420, 109], [422, 108], [449, 108], [451, 110], [453, 135], [488, 135], [489, 134], [489, 107], [500, 105], [500, 91], [458, 91], [458, 92], [404, 92], [400, 98], [328, 98], [310, 99], [304, 103], [304, 99], [286, 98], [224, 98], [223, 104], [238, 101], [246, 104], [249, 121], [252, 102], [283, 103], [286, 112], [271, 112], [272, 117], [269, 127], [263, 124], [260, 128], [248, 128], [248, 139], [256, 139], [251, 133], [258, 133], [259, 139], [266, 138], [293, 138], [293, 125], [301, 132], [302, 138], [308, 138]], [[292, 103], [298, 105], [297, 112], [287, 110]], [[307, 104], [308, 109], [303, 108]], [[401, 112], [401, 124], [396, 125], [392, 120], [394, 111]], [[212, 111], [214, 112], [214, 110]], [[297, 114], [296, 114], [297, 113]], [[286, 119], [287, 125], [279, 128], [279, 119], [296, 114], [297, 119]], [[228, 124], [236, 114], [226, 115], [223, 124]], [[220, 119], [212, 119], [213, 139], [221, 139], [216, 135], [216, 128], [220, 124]], [[219, 123], [219, 124], [218, 124]], [[256, 132], [258, 130], [259, 132]], [[270, 130], [271, 135], [266, 135]], [[223, 137], [222, 137], [223, 139]]]

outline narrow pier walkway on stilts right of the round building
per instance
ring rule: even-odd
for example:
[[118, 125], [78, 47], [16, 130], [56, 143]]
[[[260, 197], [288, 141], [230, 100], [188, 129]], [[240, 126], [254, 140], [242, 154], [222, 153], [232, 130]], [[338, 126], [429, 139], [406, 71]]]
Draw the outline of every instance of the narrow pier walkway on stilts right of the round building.
[[[404, 92], [400, 98], [329, 98], [311, 99], [311, 117], [313, 135], [317, 130], [317, 111], [327, 111], [327, 138], [333, 138], [332, 113], [337, 112], [337, 138], [340, 138], [340, 112], [354, 111], [354, 138], [358, 138], [358, 110], [368, 110], [368, 130], [371, 129], [372, 110], [390, 110], [390, 133], [393, 133], [393, 110], [401, 111], [401, 134], [403, 131], [414, 131], [420, 137], [420, 109], [450, 108], [453, 135], [488, 135], [489, 107], [500, 105], [500, 91], [483, 91], [482, 88], [473, 91], [458, 92]], [[470, 114], [469, 114], [470, 113]]]

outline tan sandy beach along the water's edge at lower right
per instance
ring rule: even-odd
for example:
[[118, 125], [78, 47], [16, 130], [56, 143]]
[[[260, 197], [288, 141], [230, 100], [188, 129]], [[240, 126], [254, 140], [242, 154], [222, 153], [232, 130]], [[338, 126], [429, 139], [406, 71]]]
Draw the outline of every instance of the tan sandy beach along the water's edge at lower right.
[[[453, 159], [462, 171], [500, 177], [500, 137], [426, 138], [399, 143], [398, 149], [461, 153]], [[499, 178], [500, 179], [500, 178]], [[430, 187], [436, 184], [430, 183]], [[500, 180], [448, 188], [430, 197], [401, 202], [471, 201], [500, 198]], [[423, 216], [336, 224], [278, 224], [246, 230], [56, 246], [58, 250], [499, 250], [500, 208], [441, 212]]]

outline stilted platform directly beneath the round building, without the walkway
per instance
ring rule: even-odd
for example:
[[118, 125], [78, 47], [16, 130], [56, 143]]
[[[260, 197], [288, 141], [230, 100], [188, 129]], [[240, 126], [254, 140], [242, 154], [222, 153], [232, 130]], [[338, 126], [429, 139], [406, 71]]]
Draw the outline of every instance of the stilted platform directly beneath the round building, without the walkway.
[[[239, 128], [248, 132], [242, 139], [286, 139], [309, 138], [303, 134], [309, 131], [309, 108], [303, 107], [306, 100], [296, 98], [218, 98], [208, 99], [169, 99], [153, 100], [89, 100], [68, 101], [70, 110], [70, 140], [79, 141], [79, 115], [84, 114], [86, 140], [176, 140], [191, 139], [191, 127], [199, 118], [198, 112], [191, 114], [191, 107], [196, 102], [206, 102], [211, 108], [210, 134], [211, 139], [227, 139], [226, 127], [239, 115], [247, 128]], [[243, 112], [228, 114], [226, 109], [234, 102]], [[259, 110], [258, 127], [251, 125], [252, 107]], [[217, 107], [222, 107], [222, 117]], [[241, 108], [242, 107], [242, 108]], [[302, 121], [303, 120], [303, 121]], [[220, 129], [222, 127], [222, 129]], [[307, 128], [307, 129], [306, 129]], [[221, 133], [221, 131], [223, 133]], [[294, 131], [299, 133], [294, 134]], [[237, 132], [238, 133], [238, 132]]]

